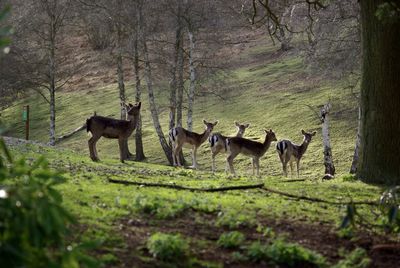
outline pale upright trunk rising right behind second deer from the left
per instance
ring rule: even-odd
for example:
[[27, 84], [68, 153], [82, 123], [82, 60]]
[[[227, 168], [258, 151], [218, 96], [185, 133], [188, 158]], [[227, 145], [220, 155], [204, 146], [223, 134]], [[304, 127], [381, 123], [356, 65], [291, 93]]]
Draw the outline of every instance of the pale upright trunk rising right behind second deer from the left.
[[188, 130], [193, 129], [193, 106], [194, 106], [194, 91], [196, 83], [196, 73], [194, 68], [194, 37], [193, 31], [189, 29], [189, 71], [190, 71], [190, 85], [188, 94], [188, 113], [187, 113], [187, 124]]

